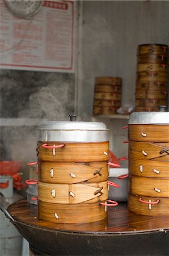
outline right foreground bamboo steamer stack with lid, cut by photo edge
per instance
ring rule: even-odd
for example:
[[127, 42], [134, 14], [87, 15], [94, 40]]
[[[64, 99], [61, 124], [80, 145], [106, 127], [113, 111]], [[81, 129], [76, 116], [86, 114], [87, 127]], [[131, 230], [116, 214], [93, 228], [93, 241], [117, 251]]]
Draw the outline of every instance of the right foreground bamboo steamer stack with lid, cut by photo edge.
[[169, 113], [135, 112], [129, 118], [128, 209], [169, 215]]

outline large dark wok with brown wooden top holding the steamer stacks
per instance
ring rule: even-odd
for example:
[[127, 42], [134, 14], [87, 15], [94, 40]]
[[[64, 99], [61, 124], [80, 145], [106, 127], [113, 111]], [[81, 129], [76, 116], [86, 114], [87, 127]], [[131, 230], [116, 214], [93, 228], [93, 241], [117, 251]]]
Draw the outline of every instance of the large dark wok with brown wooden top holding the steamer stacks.
[[169, 255], [169, 218], [138, 215], [126, 204], [109, 207], [107, 219], [89, 224], [45, 222], [37, 206], [23, 199], [8, 210], [16, 228], [41, 255]]

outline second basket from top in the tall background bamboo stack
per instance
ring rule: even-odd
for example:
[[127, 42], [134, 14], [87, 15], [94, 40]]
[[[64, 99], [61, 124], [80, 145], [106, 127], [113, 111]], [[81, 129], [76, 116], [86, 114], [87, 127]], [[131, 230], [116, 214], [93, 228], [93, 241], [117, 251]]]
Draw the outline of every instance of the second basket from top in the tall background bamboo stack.
[[168, 56], [165, 54], [146, 54], [146, 55], [138, 55], [137, 63], [163, 63], [168, 64]]

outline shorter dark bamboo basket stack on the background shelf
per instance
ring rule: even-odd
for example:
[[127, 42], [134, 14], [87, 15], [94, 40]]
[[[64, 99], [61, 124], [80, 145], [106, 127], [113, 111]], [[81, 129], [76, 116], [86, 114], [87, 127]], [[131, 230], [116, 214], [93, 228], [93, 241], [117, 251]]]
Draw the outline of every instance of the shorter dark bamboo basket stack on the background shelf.
[[95, 77], [94, 114], [117, 114], [121, 106], [121, 78]]

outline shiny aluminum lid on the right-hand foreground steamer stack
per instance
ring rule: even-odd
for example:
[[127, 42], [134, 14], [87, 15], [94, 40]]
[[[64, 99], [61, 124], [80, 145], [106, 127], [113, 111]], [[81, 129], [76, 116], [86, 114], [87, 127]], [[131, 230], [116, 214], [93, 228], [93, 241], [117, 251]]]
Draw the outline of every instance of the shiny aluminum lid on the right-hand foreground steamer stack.
[[169, 112], [133, 112], [129, 125], [169, 125]]

